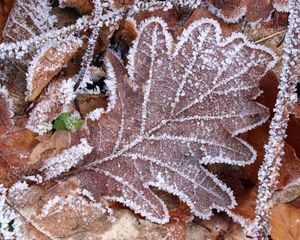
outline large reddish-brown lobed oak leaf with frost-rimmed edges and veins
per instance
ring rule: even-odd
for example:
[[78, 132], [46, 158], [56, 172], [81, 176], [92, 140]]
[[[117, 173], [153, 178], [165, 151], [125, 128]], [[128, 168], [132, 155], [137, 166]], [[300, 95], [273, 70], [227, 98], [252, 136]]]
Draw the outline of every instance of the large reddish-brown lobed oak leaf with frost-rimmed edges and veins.
[[201, 164], [255, 160], [236, 135], [268, 118], [253, 99], [274, 54], [242, 34], [223, 39], [211, 19], [191, 24], [177, 42], [160, 18], [138, 32], [129, 78], [107, 53], [110, 104], [89, 114], [93, 152], [77, 177], [95, 199], [121, 202], [157, 223], [169, 214], [150, 186], [178, 196], [201, 218], [233, 208], [232, 191]]

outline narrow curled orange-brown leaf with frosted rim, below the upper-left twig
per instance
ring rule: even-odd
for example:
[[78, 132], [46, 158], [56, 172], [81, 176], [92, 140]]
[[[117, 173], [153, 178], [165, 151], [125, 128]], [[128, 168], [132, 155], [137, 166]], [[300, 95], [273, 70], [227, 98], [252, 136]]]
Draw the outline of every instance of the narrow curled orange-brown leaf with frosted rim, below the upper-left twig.
[[78, 48], [81, 41], [68, 39], [51, 43], [43, 47], [31, 61], [27, 75], [27, 101], [34, 101], [59, 71], [66, 65]]

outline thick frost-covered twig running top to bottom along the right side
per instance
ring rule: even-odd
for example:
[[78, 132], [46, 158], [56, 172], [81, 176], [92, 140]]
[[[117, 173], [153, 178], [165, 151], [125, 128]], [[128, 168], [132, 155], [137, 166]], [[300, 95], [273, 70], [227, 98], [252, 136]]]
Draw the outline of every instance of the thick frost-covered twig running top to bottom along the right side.
[[284, 154], [284, 138], [293, 103], [296, 101], [296, 84], [300, 75], [300, 1], [290, 0], [289, 26], [285, 39], [285, 56], [281, 73], [279, 94], [270, 126], [269, 142], [265, 146], [264, 163], [259, 170], [259, 189], [254, 229], [255, 239], [268, 239], [273, 193]]

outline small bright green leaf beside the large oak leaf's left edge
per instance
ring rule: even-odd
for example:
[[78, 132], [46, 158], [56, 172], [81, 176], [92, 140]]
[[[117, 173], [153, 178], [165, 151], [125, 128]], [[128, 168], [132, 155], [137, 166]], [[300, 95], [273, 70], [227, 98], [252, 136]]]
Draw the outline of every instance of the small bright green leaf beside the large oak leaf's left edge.
[[71, 116], [69, 112], [64, 112], [54, 120], [53, 128], [56, 130], [73, 130], [81, 128], [82, 125], [83, 121], [80, 118]]

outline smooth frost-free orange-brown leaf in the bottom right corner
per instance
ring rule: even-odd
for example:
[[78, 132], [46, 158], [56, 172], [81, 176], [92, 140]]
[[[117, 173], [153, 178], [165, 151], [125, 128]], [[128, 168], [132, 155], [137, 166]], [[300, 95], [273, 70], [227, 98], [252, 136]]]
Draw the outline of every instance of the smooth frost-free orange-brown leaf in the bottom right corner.
[[274, 240], [300, 239], [300, 209], [288, 204], [275, 205], [271, 217], [271, 236]]

